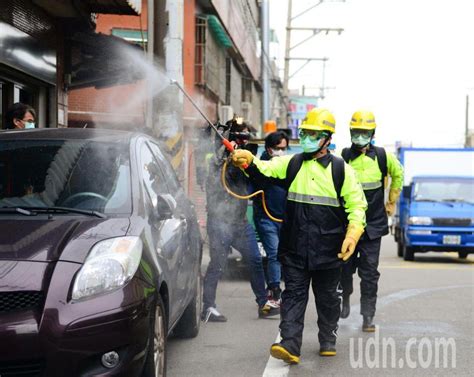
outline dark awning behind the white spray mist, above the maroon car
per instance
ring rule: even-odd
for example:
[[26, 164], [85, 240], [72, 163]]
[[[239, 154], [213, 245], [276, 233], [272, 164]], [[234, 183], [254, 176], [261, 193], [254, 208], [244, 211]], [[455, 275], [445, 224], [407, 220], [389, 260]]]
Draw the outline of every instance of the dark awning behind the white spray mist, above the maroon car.
[[69, 40], [65, 73], [70, 89], [129, 84], [144, 78], [145, 52], [112, 35], [78, 32]]

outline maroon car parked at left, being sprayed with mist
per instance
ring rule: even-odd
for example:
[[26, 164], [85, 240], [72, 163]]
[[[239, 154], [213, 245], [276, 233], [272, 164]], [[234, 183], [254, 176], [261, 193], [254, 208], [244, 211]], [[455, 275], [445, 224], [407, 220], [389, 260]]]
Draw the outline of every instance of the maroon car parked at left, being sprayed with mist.
[[153, 138], [0, 132], [0, 376], [164, 376], [201, 311], [196, 215]]

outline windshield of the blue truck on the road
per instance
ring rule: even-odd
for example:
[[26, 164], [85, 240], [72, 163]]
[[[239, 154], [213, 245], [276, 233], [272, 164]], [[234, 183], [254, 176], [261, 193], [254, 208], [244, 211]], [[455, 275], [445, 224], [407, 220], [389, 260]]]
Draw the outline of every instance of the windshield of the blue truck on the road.
[[415, 183], [414, 199], [426, 202], [474, 203], [473, 180], [422, 181]]

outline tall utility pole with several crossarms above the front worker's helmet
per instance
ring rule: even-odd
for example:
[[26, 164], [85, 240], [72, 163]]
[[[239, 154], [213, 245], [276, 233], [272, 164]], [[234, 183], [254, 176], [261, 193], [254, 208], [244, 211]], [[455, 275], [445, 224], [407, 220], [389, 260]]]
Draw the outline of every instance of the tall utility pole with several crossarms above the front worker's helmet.
[[[300, 17], [301, 15], [305, 14], [306, 12], [310, 11], [313, 8], [316, 8], [318, 5], [323, 3], [324, 0], [319, 0], [317, 3], [313, 4], [309, 8], [305, 9], [304, 11], [298, 13], [296, 16], [292, 16], [292, 0], [288, 0], [288, 17], [287, 17], [287, 22], [286, 22], [286, 43], [285, 43], [285, 68], [284, 68], [284, 73], [283, 73], [283, 100], [285, 106], [283, 107], [281, 111], [280, 118], [282, 121], [285, 122], [283, 124], [283, 127], [287, 127], [287, 105], [288, 105], [288, 98], [289, 98], [289, 89], [288, 89], [288, 84], [289, 80], [299, 71], [301, 71], [306, 65], [308, 65], [312, 61], [320, 60], [323, 62], [323, 64], [326, 64], [326, 61], [328, 58], [310, 58], [310, 57], [299, 57], [299, 58], [293, 58], [290, 56], [291, 50], [294, 48], [301, 46], [303, 43], [307, 42], [308, 40], [312, 39], [314, 36], [321, 32], [325, 32], [326, 34], [329, 34], [330, 32], [336, 32], [338, 34], [341, 34], [344, 29], [342, 28], [314, 28], [314, 27], [292, 27], [291, 23], [294, 19]], [[339, 2], [345, 2], [345, 0], [339, 0]], [[310, 34], [308, 37], [303, 39], [302, 41], [298, 42], [294, 46], [291, 45], [291, 31], [310, 31], [312, 34]], [[304, 60], [305, 63], [300, 66], [292, 75], [290, 75], [290, 60]], [[323, 79], [324, 82], [324, 79]], [[324, 86], [324, 84], [323, 84]], [[322, 88], [322, 95], [324, 95], [324, 88]]]

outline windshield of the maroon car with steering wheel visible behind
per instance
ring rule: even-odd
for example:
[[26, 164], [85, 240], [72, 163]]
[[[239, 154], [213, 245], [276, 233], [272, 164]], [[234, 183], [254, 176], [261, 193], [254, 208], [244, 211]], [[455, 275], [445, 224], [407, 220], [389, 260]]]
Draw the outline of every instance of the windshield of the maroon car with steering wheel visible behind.
[[0, 145], [0, 208], [131, 212], [123, 140], [8, 140]]

